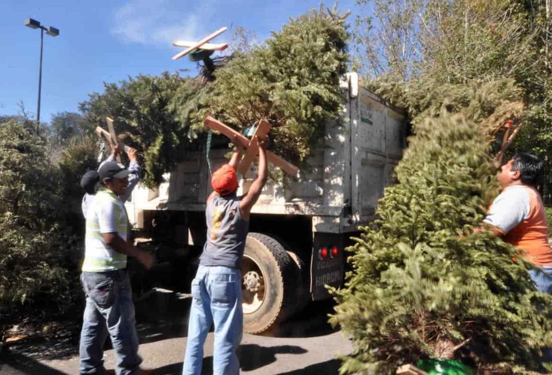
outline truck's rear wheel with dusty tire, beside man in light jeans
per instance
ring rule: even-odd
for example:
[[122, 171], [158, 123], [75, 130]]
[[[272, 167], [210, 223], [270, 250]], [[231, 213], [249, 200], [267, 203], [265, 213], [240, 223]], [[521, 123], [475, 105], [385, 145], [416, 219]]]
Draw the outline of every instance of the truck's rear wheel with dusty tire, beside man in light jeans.
[[298, 266], [278, 240], [249, 233], [242, 260], [243, 330], [259, 334], [295, 312]]

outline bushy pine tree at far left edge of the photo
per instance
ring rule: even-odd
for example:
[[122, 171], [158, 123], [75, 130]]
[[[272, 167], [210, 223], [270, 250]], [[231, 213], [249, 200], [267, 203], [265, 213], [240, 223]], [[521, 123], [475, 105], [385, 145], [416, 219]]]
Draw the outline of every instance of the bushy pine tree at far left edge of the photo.
[[0, 336], [33, 304], [60, 307], [72, 282], [75, 237], [63, 225], [60, 176], [35, 131], [0, 124]]

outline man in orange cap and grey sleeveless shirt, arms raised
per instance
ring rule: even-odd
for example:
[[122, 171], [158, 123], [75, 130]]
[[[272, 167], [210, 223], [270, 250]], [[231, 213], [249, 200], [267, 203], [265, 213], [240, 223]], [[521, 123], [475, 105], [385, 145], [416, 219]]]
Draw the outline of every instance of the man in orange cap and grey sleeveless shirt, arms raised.
[[[256, 138], [257, 139], [257, 138]], [[207, 240], [192, 280], [192, 307], [188, 322], [188, 342], [183, 374], [201, 373], [203, 344], [211, 323], [215, 324], [213, 372], [232, 375], [240, 372], [236, 349], [243, 329], [241, 260], [251, 207], [267, 181], [266, 140], [259, 142], [257, 179], [246, 195], [236, 196], [236, 168], [243, 151], [233, 138], [236, 152], [228, 164], [211, 177], [214, 191], [206, 201]]]

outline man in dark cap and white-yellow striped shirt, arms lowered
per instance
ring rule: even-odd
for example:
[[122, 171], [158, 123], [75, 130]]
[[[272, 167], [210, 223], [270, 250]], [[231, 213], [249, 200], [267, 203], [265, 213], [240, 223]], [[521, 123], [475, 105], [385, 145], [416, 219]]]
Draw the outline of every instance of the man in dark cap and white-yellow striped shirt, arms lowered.
[[[117, 374], [137, 374], [138, 337], [127, 256], [134, 256], [146, 269], [153, 256], [128, 242], [129, 220], [124, 202], [130, 171], [109, 161], [99, 170], [100, 190], [88, 207], [86, 243], [81, 282], [86, 294], [81, 342], [81, 374], [104, 373], [103, 345], [111, 337], [116, 355]], [[107, 330], [105, 329], [107, 326]]]

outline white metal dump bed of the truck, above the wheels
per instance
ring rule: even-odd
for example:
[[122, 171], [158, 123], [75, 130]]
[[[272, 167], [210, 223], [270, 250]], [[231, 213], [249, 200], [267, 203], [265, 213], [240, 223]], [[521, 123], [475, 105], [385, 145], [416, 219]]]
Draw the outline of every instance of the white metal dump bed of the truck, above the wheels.
[[[343, 123], [327, 122], [325, 137], [307, 159], [310, 170], [286, 184], [269, 180], [252, 213], [311, 216], [312, 232], [328, 233], [354, 232], [373, 218], [405, 147], [405, 117], [358, 87], [357, 74], [347, 78], [342, 82], [347, 97]], [[205, 147], [189, 153], [158, 189], [137, 186], [126, 203], [132, 224], [143, 225], [143, 210], [205, 210], [212, 191]], [[211, 149], [212, 170], [227, 162], [228, 151]], [[238, 195], [247, 191], [255, 173], [253, 164], [240, 179]]]

